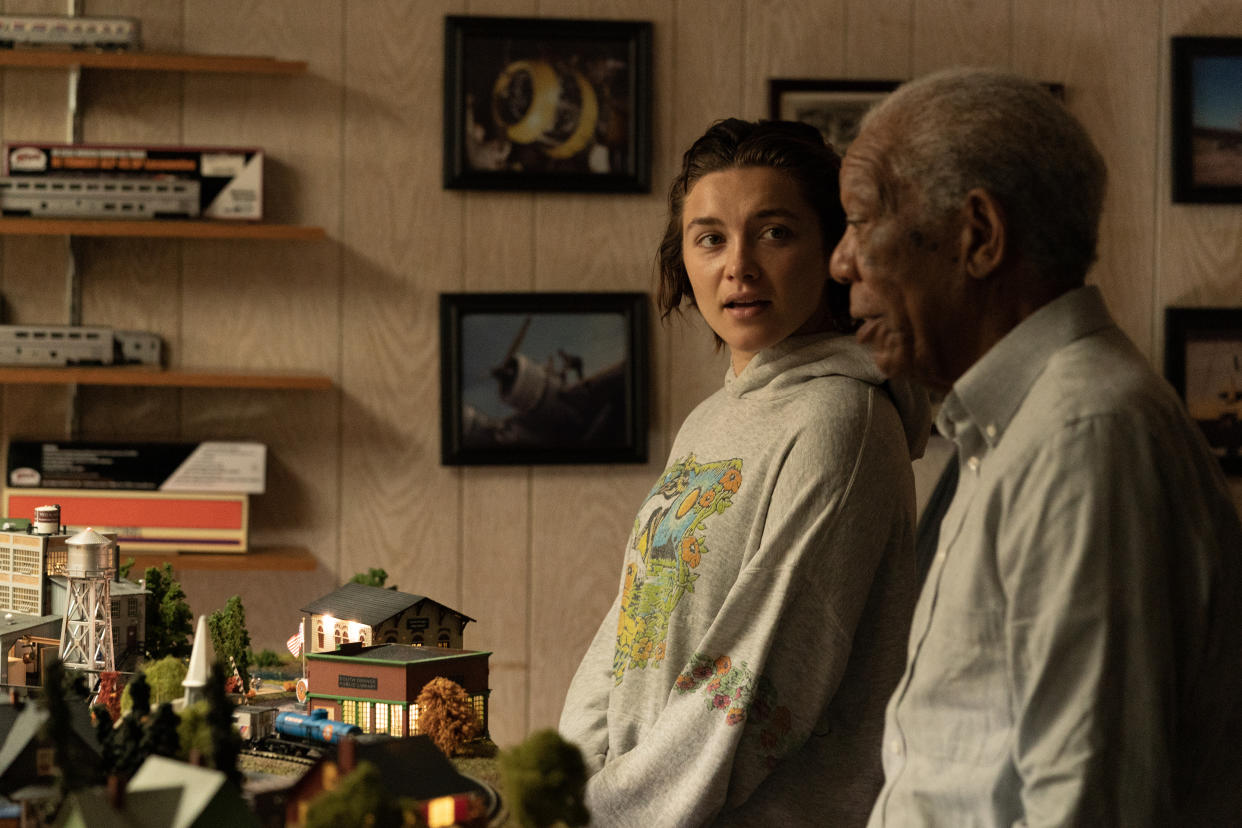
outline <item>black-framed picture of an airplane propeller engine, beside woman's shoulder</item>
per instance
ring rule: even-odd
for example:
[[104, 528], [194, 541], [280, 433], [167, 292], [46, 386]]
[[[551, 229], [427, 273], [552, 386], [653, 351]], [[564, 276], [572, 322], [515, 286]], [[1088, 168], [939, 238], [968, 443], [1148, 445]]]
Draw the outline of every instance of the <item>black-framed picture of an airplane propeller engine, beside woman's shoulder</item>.
[[645, 293], [442, 293], [445, 466], [645, 463]]

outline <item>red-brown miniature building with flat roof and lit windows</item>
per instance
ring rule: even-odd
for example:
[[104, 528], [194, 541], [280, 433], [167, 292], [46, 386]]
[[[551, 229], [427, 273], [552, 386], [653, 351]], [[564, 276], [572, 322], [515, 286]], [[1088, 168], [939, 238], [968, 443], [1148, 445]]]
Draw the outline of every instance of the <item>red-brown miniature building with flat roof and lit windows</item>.
[[488, 665], [491, 653], [414, 647], [410, 644], [344, 644], [334, 653], [307, 653], [307, 701], [328, 718], [358, 725], [364, 734], [414, 736], [424, 685], [443, 677], [469, 695], [487, 735]]

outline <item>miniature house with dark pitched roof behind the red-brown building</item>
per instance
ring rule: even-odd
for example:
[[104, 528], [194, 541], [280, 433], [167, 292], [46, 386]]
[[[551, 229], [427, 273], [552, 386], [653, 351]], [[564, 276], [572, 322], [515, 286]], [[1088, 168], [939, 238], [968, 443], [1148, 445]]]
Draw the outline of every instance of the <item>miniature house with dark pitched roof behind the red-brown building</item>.
[[462, 648], [462, 631], [474, 621], [421, 595], [347, 583], [302, 608], [308, 653], [342, 644], [410, 644]]

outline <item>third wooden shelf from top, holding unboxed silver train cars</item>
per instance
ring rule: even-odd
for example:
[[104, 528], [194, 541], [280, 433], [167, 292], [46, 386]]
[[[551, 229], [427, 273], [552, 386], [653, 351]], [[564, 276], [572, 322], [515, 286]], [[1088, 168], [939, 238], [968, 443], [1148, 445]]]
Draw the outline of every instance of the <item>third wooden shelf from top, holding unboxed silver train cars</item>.
[[319, 374], [278, 371], [160, 370], [145, 365], [17, 367], [0, 366], [0, 385], [127, 385], [175, 389], [263, 389], [330, 391], [332, 379]]

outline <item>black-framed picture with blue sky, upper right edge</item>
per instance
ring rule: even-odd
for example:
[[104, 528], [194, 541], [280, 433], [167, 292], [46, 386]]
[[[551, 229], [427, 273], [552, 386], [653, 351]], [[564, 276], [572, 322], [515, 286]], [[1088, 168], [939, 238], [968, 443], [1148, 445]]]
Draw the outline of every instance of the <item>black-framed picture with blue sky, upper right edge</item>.
[[1174, 37], [1172, 200], [1242, 202], [1242, 37]]

